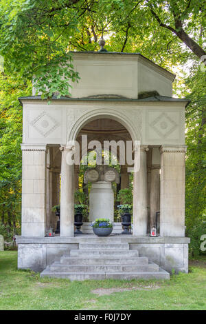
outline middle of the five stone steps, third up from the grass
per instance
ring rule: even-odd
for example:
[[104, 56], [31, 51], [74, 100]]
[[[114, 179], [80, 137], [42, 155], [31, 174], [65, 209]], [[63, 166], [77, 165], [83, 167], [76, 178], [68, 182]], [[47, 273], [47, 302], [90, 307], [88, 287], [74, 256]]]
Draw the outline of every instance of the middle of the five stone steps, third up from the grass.
[[60, 263], [64, 265], [110, 265], [110, 264], [127, 264], [127, 265], [148, 265], [148, 258], [141, 256], [138, 258], [117, 258], [117, 257], [91, 257], [78, 258], [71, 256], [62, 256]]

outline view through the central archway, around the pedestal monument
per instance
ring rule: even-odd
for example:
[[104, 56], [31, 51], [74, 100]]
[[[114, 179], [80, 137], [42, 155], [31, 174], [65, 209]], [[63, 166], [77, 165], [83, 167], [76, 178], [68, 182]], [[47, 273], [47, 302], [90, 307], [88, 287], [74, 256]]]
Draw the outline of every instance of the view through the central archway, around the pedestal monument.
[[[85, 141], [85, 137], [87, 137], [87, 150], [82, 148], [82, 141]], [[84, 211], [84, 222], [91, 221], [89, 198], [92, 187], [91, 181], [84, 182], [84, 174], [99, 164], [114, 168], [119, 174], [119, 183], [113, 181], [111, 185], [114, 194], [113, 220], [121, 222], [117, 205], [133, 204], [133, 172], [131, 172], [133, 165], [128, 165], [126, 156], [126, 145], [130, 143], [131, 150], [133, 148], [130, 133], [119, 121], [100, 117], [84, 123], [76, 140], [80, 145], [81, 163], [75, 166], [75, 203], [83, 202], [87, 205]], [[97, 148], [96, 142], [100, 143], [101, 149]], [[108, 142], [111, 145], [108, 145]], [[133, 159], [132, 152], [130, 158]]]

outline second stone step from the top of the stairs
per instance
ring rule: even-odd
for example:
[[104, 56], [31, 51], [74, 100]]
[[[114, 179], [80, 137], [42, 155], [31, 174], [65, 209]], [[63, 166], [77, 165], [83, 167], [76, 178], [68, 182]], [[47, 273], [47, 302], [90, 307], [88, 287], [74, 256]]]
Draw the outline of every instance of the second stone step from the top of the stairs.
[[70, 256], [119, 256], [120, 258], [138, 257], [137, 250], [71, 250]]

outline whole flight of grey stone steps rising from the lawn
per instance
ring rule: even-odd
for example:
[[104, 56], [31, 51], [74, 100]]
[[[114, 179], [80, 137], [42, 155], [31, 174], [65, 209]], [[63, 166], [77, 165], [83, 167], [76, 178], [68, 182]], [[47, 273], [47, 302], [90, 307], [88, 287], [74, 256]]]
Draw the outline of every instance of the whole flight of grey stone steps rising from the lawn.
[[41, 277], [87, 279], [170, 279], [159, 265], [129, 250], [128, 243], [80, 243], [78, 250], [62, 256], [41, 272]]

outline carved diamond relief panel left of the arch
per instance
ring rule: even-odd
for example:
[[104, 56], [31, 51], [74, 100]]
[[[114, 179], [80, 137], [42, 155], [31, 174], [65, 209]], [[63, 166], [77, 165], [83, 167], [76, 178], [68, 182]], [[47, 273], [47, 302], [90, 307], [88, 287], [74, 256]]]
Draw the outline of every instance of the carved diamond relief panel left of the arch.
[[30, 125], [32, 125], [41, 135], [47, 137], [60, 126], [60, 123], [48, 112], [43, 111], [30, 122]]

